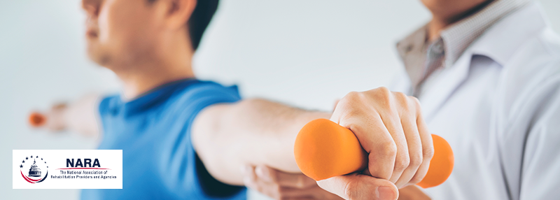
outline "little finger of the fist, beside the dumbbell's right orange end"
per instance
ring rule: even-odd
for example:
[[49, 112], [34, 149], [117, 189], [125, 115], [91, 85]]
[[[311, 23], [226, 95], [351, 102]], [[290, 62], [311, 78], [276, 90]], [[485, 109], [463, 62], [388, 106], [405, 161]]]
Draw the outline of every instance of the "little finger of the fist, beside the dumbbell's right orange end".
[[430, 134], [428, 125], [423, 120], [419, 106], [420, 103], [417, 100], [416, 104], [418, 105], [416, 107], [418, 108], [418, 110], [416, 110], [416, 126], [418, 127], [422, 143], [422, 164], [420, 164], [416, 174], [410, 180], [410, 184], [419, 183], [426, 176], [426, 173], [428, 173], [428, 169], [430, 168], [430, 160], [432, 160], [434, 154], [432, 134]]

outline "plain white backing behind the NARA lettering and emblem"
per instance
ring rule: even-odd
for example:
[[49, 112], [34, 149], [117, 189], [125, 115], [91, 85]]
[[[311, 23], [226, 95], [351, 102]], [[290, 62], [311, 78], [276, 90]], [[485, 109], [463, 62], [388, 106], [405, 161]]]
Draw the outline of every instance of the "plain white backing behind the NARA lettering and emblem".
[[[23, 168], [20, 168], [22, 159], [31, 155], [38, 158], [25, 160]], [[40, 160], [43, 158], [43, 160]], [[99, 161], [97, 168], [102, 169], [65, 169], [66, 159], [73, 159], [76, 166], [78, 159], [84, 164], [84, 159], [94, 159]], [[23, 177], [29, 173], [29, 167], [33, 159], [38, 163], [43, 178], [48, 176], [41, 183], [28, 183]], [[13, 150], [12, 182], [13, 188], [17, 189], [123, 189], [123, 150]], [[42, 162], [45, 162], [43, 164]], [[48, 166], [48, 168], [46, 168]], [[92, 167], [92, 166], [83, 166]], [[64, 170], [57, 170], [64, 169]], [[20, 172], [21, 171], [21, 172]], [[48, 174], [47, 174], [48, 171]], [[107, 171], [106, 174], [62, 174], [60, 171]], [[52, 176], [116, 176], [116, 178], [52, 178]]]

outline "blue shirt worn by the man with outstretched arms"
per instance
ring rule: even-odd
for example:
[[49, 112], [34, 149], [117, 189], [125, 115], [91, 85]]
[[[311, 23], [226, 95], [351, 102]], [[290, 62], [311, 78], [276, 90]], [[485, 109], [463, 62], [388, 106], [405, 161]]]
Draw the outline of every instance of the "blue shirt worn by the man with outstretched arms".
[[190, 141], [196, 115], [216, 103], [239, 101], [236, 86], [179, 80], [146, 94], [99, 104], [99, 149], [123, 150], [123, 189], [82, 190], [82, 199], [246, 199], [245, 187], [214, 179]]

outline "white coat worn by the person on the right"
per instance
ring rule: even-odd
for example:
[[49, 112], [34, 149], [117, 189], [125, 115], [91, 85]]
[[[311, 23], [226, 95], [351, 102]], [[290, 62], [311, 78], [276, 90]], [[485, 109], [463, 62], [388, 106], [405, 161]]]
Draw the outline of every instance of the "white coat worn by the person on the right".
[[[542, 13], [496, 22], [420, 95], [455, 155], [433, 199], [560, 199], [560, 37]], [[410, 91], [406, 73], [392, 89]]]

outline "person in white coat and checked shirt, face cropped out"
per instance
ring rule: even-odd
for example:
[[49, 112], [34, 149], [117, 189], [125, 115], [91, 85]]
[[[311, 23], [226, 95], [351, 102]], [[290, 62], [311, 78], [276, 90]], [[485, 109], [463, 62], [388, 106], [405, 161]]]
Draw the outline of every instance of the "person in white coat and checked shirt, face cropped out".
[[[430, 132], [451, 144], [455, 168], [442, 185], [404, 187], [399, 199], [558, 199], [560, 37], [540, 4], [422, 3], [433, 18], [398, 42], [406, 73], [391, 89], [419, 98]], [[260, 179], [253, 188], [269, 191]], [[365, 178], [318, 183], [345, 199], [377, 199]]]

